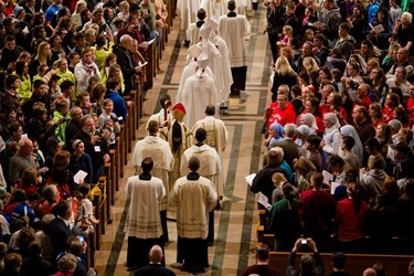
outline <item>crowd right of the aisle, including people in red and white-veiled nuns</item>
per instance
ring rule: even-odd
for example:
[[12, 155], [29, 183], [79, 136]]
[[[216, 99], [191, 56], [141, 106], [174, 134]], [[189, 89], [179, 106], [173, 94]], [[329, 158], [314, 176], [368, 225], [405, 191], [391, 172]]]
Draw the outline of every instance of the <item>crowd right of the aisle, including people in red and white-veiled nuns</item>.
[[[265, 1], [264, 167], [275, 251], [412, 254], [414, 38], [406, 1]], [[259, 205], [259, 209], [265, 206]]]

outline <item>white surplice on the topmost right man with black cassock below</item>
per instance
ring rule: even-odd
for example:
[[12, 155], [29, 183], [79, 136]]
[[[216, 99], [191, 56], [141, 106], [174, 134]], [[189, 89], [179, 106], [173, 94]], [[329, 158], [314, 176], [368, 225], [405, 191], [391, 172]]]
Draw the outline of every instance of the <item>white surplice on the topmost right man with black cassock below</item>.
[[244, 36], [251, 32], [251, 24], [245, 15], [222, 15], [219, 20], [219, 34], [229, 46], [231, 67], [247, 66], [247, 50]]

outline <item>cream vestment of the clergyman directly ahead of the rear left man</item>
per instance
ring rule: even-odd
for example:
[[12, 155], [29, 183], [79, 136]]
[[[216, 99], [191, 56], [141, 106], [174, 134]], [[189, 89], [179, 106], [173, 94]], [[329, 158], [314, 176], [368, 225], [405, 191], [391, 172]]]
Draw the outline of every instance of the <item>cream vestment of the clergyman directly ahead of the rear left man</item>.
[[166, 197], [161, 202], [161, 210], [168, 208], [168, 193], [170, 192], [169, 171], [174, 168], [174, 158], [171, 153], [170, 145], [157, 136], [147, 136], [137, 141], [132, 153], [132, 166], [140, 172], [141, 162], [145, 158], [151, 157], [153, 169], [151, 174], [162, 180], [166, 189]]

